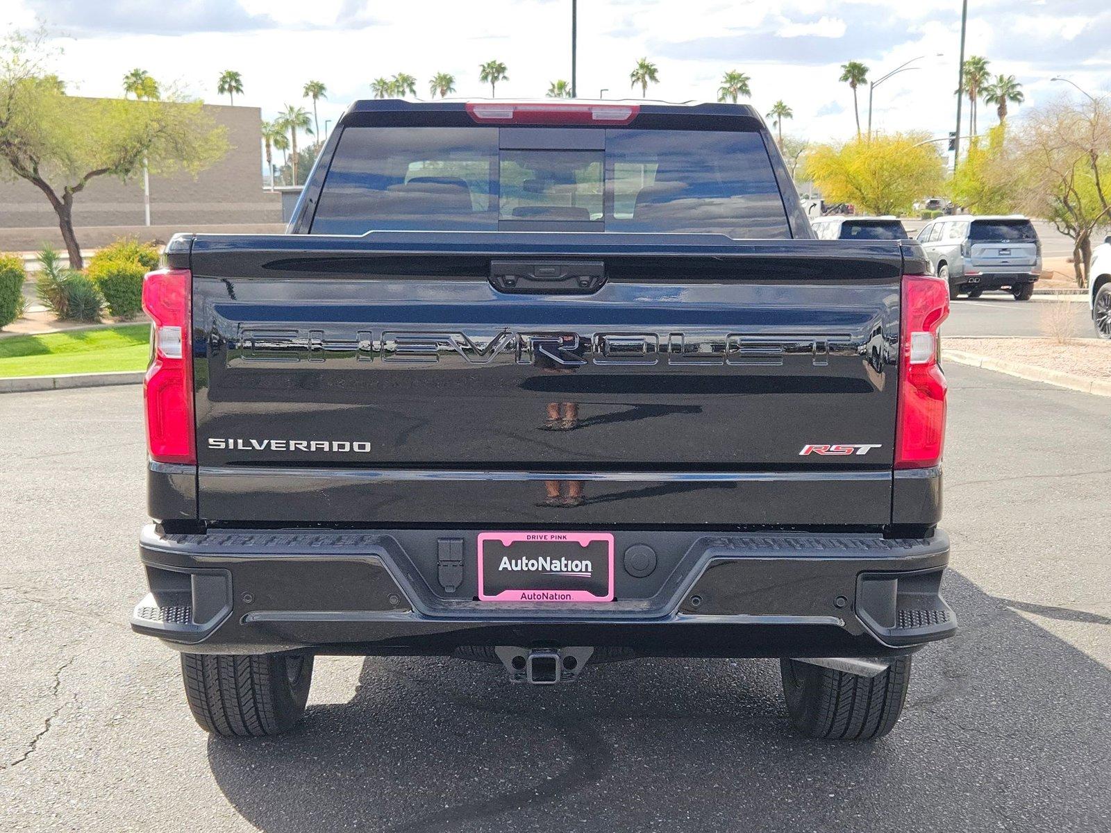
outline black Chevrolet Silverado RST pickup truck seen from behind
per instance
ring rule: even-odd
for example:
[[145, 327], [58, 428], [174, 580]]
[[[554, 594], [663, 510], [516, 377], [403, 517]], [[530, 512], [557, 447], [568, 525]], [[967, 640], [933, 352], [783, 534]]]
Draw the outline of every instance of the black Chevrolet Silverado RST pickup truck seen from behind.
[[865, 740], [955, 630], [948, 288], [815, 240], [749, 107], [358, 102], [288, 233], [164, 260], [131, 624], [210, 732], [288, 729], [316, 654], [709, 656]]

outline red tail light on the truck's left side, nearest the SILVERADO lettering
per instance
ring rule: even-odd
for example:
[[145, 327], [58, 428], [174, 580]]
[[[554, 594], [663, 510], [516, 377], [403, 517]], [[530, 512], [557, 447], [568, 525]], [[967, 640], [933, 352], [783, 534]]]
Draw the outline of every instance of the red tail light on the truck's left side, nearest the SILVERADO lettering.
[[142, 282], [142, 307], [151, 317], [151, 360], [143, 382], [147, 444], [160, 463], [197, 463], [193, 441], [192, 315], [188, 269], [158, 269]]

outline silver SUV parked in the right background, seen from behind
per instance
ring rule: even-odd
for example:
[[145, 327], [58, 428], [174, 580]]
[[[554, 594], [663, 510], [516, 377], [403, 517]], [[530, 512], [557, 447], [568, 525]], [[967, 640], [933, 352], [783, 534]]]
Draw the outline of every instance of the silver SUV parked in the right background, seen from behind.
[[1007, 289], [1015, 300], [1029, 301], [1041, 275], [1041, 241], [1020, 214], [942, 217], [918, 233], [918, 242], [938, 277], [949, 281], [952, 299]]

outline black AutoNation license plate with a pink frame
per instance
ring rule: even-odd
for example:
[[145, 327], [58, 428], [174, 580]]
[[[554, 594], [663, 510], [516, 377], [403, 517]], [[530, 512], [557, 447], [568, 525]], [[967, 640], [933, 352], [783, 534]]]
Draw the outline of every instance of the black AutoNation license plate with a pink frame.
[[478, 551], [480, 601], [613, 601], [609, 532], [483, 532]]

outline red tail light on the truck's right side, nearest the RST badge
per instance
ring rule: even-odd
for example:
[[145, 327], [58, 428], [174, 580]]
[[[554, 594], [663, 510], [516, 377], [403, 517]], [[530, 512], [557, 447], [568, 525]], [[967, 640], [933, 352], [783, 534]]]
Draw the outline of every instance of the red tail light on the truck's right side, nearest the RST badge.
[[945, 281], [929, 274], [903, 275], [897, 469], [927, 469], [941, 462], [948, 385], [938, 363], [938, 330], [948, 315]]

